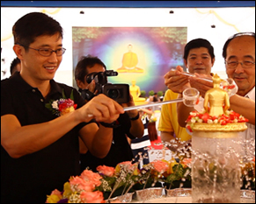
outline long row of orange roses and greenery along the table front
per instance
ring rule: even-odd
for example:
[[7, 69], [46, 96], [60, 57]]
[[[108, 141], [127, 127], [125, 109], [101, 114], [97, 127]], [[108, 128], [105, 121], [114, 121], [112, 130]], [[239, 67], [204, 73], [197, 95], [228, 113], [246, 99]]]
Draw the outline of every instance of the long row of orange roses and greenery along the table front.
[[[162, 187], [161, 182], [172, 183], [184, 178], [190, 161], [173, 163], [155, 160], [139, 170], [131, 161], [121, 162], [115, 168], [99, 165], [97, 172], [85, 169], [80, 176], [71, 176], [62, 191], [55, 189], [47, 195], [47, 203], [105, 203], [113, 197], [135, 190]], [[188, 178], [188, 176], [187, 176]]]

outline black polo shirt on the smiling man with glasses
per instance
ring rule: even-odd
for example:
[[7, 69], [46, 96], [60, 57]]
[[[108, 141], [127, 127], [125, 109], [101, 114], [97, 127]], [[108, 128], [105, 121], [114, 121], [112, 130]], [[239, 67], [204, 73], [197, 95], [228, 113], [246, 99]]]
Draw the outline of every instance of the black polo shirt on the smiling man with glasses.
[[[28, 85], [19, 73], [1, 81], [1, 116], [15, 115], [21, 126], [51, 121], [57, 116], [45, 104], [62, 98], [62, 90], [67, 97], [73, 90], [77, 109], [84, 105], [75, 88], [54, 80], [50, 84], [51, 90], [45, 99], [38, 88]], [[80, 172], [78, 131], [85, 124], [78, 124], [55, 143], [21, 158], [11, 158], [1, 145], [1, 202], [43, 203], [53, 190], [62, 191], [69, 177]]]

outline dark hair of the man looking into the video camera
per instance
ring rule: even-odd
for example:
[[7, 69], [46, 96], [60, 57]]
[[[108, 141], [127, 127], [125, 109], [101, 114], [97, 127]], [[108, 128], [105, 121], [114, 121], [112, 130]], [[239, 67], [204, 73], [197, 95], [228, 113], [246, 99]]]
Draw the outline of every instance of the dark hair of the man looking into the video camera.
[[90, 54], [82, 56], [75, 69], [75, 80], [84, 82], [84, 77], [88, 74], [87, 68], [91, 68], [95, 64], [99, 64], [106, 69], [106, 65], [98, 57], [91, 56]]

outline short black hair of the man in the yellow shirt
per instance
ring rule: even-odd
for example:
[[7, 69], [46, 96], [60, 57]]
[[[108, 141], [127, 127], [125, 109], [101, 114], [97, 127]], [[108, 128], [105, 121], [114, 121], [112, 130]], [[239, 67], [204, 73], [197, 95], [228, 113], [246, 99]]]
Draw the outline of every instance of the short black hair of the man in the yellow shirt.
[[209, 43], [207, 39], [192, 39], [187, 43], [184, 48], [183, 59], [187, 60], [188, 53], [191, 49], [205, 47], [208, 49], [208, 53], [211, 56], [211, 59], [215, 58], [214, 47]]

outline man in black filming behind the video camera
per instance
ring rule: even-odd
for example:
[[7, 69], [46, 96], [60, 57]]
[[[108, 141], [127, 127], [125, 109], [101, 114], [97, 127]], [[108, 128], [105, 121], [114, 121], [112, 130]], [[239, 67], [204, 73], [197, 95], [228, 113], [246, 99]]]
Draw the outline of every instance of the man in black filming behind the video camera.
[[[77, 81], [77, 87], [85, 101], [88, 102], [94, 95], [99, 95], [102, 91], [100, 87], [107, 83], [106, 75], [108, 75], [106, 74], [106, 66], [98, 57], [87, 55], [78, 61], [75, 70], [75, 79]], [[128, 102], [121, 103], [121, 106], [128, 107], [134, 105], [133, 97], [128, 93]], [[115, 167], [123, 161], [131, 161], [134, 158], [128, 138], [143, 137], [144, 127], [139, 112], [136, 109], [128, 110], [124, 114], [121, 114], [111, 126], [107, 126], [113, 128], [113, 142], [106, 158], [92, 156], [91, 152], [86, 150], [83, 142], [80, 141], [82, 172], [87, 166], [93, 172], [96, 172], [96, 168], [99, 165]]]

